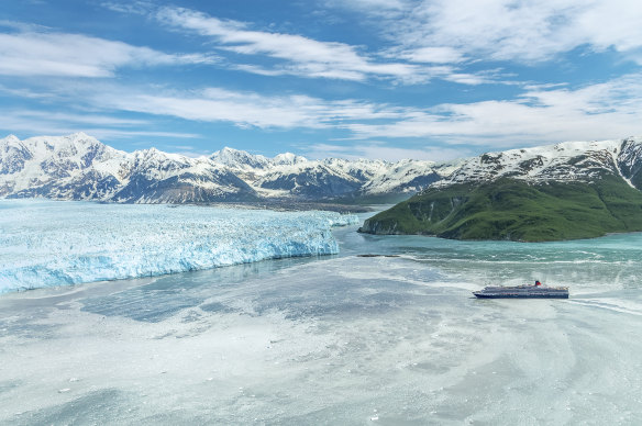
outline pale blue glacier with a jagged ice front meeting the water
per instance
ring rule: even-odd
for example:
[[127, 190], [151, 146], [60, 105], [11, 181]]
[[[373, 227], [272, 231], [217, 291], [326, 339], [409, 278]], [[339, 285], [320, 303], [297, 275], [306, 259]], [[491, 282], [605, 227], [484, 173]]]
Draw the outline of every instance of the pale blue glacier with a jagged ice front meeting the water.
[[332, 255], [335, 212], [0, 200], [0, 293]]

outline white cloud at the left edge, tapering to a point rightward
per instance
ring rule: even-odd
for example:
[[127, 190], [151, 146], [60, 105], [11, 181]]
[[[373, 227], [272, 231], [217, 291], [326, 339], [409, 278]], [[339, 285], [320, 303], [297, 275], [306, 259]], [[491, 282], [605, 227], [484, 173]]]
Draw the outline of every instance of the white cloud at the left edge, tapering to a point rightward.
[[148, 47], [80, 34], [0, 34], [0, 75], [111, 77], [124, 66], [210, 63], [202, 55], [168, 55]]

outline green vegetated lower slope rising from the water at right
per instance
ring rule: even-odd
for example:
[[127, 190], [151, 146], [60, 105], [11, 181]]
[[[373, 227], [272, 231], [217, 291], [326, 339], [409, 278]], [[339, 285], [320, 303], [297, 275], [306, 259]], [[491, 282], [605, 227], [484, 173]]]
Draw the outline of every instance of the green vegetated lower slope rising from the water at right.
[[370, 234], [546, 242], [642, 231], [642, 192], [620, 177], [591, 183], [501, 179], [430, 188], [364, 223]]

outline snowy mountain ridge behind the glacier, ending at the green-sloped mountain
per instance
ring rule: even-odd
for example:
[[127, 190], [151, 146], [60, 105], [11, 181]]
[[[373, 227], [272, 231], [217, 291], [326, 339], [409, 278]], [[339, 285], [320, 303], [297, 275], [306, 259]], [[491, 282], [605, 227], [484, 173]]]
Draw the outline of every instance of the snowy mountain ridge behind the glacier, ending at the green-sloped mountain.
[[0, 198], [124, 203], [359, 200], [412, 194], [456, 164], [274, 158], [233, 148], [191, 158], [155, 148], [125, 153], [88, 136], [0, 139]]

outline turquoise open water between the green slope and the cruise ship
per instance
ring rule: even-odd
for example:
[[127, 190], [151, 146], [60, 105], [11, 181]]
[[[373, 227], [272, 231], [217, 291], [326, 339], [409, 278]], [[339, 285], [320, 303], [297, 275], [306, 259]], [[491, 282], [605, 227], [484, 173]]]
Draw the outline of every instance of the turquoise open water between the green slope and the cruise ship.
[[532, 283], [574, 287], [575, 293], [639, 289], [642, 234], [560, 243], [455, 242], [425, 237], [369, 237], [368, 243], [451, 278], [480, 284]]

